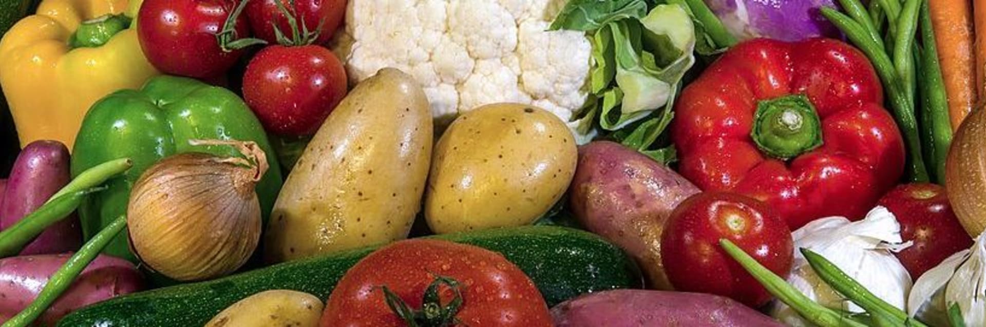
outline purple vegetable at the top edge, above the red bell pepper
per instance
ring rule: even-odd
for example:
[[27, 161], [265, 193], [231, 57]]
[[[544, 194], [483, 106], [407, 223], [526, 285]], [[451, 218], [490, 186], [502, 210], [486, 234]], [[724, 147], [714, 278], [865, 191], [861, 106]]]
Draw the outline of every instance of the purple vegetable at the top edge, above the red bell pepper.
[[705, 0], [740, 40], [770, 37], [797, 41], [841, 33], [821, 16], [822, 6], [837, 8], [834, 0]]

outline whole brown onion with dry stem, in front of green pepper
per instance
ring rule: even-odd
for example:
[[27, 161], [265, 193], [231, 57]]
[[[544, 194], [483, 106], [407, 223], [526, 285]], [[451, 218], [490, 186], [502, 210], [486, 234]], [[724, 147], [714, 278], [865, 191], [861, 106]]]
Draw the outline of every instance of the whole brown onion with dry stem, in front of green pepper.
[[246, 263], [260, 239], [260, 202], [254, 189], [267, 169], [253, 142], [228, 145], [243, 158], [188, 153], [154, 164], [130, 193], [130, 244], [141, 261], [178, 281], [230, 274]]

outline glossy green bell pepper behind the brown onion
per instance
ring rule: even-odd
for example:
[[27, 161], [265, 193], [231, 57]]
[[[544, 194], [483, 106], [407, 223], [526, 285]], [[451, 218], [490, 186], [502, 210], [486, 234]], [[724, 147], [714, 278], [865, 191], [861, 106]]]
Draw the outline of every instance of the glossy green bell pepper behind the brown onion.
[[[73, 177], [106, 161], [130, 158], [133, 167], [107, 182], [108, 189], [89, 196], [79, 208], [83, 235], [95, 236], [126, 213], [130, 188], [145, 169], [180, 153], [198, 152], [240, 157], [228, 146], [191, 146], [188, 140], [256, 142], [267, 155], [268, 169], [256, 185], [264, 226], [281, 189], [277, 156], [244, 100], [234, 93], [199, 81], [160, 76], [140, 91], [122, 90], [93, 104], [82, 121], [72, 154]], [[104, 253], [136, 261], [120, 233]]]

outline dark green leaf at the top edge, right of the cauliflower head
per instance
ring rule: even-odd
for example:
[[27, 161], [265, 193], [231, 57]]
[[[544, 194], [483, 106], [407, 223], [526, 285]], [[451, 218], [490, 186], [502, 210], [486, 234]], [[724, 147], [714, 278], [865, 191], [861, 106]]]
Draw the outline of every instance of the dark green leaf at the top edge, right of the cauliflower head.
[[644, 0], [572, 0], [548, 30], [596, 31], [611, 22], [644, 17], [647, 5]]

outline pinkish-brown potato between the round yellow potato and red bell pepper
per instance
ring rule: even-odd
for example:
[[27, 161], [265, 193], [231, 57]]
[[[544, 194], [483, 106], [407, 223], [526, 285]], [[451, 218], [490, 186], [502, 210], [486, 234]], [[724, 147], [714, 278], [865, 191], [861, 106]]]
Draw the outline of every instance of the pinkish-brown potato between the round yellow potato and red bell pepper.
[[672, 210], [699, 192], [669, 167], [612, 142], [579, 149], [569, 189], [579, 222], [633, 256], [649, 286], [671, 290], [661, 264], [661, 232]]

